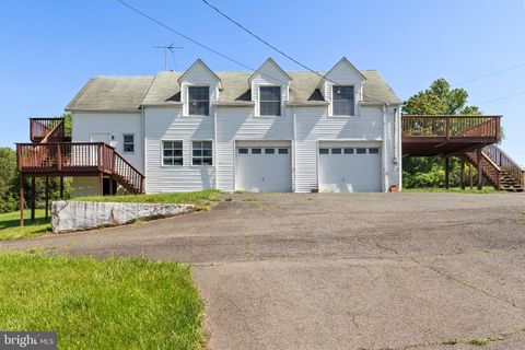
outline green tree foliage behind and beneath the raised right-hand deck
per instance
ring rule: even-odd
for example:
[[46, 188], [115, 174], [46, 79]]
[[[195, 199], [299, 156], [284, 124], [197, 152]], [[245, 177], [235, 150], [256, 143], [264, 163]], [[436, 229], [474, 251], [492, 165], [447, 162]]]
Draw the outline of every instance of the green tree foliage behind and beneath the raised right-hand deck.
[[[404, 114], [412, 115], [479, 115], [479, 107], [467, 104], [465, 89], [452, 89], [443, 78], [435, 80], [429, 89], [408, 98]], [[451, 159], [451, 186], [459, 186], [459, 162]], [[404, 159], [402, 185], [406, 188], [442, 187], [445, 183], [444, 161], [439, 156], [410, 156]]]

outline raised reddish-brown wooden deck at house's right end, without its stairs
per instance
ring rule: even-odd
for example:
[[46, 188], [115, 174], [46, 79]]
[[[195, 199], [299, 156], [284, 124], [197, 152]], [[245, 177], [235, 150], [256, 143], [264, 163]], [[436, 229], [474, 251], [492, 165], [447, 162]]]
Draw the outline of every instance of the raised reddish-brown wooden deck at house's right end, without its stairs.
[[404, 155], [458, 155], [497, 143], [501, 116], [402, 116]]

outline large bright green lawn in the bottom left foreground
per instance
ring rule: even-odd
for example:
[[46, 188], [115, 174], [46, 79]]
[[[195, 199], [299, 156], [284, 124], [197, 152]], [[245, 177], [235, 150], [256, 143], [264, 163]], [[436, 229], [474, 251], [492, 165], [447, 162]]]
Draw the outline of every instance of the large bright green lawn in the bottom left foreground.
[[147, 259], [0, 255], [0, 329], [52, 330], [58, 349], [201, 349], [189, 267]]

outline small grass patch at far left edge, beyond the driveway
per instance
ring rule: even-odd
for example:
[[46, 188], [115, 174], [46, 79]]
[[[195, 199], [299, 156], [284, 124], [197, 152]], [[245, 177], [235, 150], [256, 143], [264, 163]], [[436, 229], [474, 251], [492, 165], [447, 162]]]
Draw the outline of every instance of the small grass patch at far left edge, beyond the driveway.
[[35, 237], [51, 232], [51, 224], [46, 223], [43, 209], [35, 211], [35, 222], [31, 222], [30, 215], [30, 210], [25, 210], [24, 226], [20, 228], [20, 211], [0, 214], [0, 241]]

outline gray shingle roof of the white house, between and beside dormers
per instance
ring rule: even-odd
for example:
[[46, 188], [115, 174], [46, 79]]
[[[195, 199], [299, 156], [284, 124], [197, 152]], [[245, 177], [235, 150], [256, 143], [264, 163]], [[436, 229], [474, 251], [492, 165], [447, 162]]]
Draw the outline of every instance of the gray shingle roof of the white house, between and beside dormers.
[[[215, 72], [222, 90], [218, 105], [250, 105], [250, 72]], [[290, 102], [326, 103], [317, 90], [320, 77], [313, 72], [287, 72], [291, 78]], [[323, 72], [319, 72], [323, 75]], [[400, 103], [394, 91], [375, 70], [364, 70], [365, 102]], [[156, 77], [96, 77], [77, 94], [67, 110], [138, 109], [141, 105], [180, 104], [178, 78], [184, 72], [159, 72]]]

